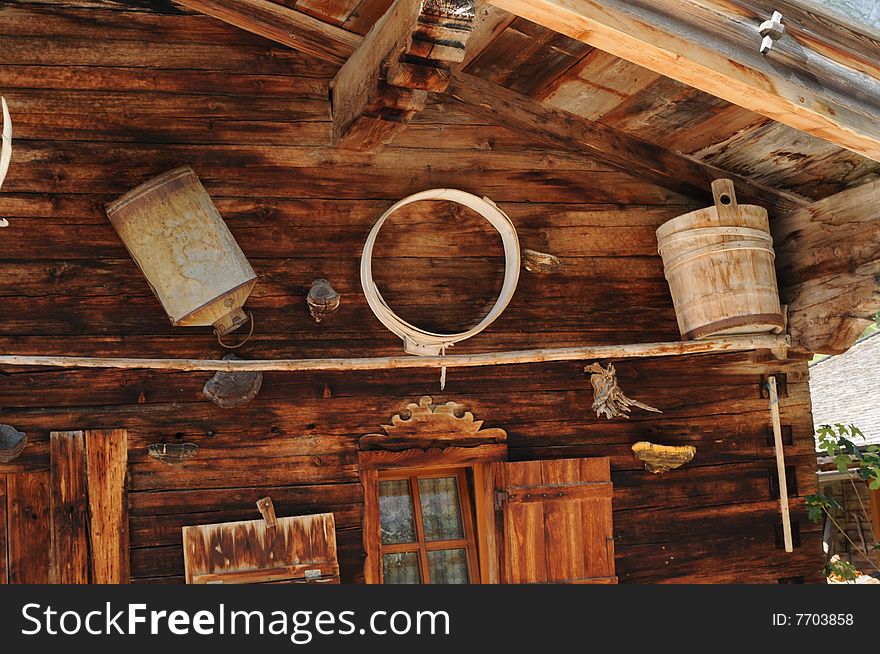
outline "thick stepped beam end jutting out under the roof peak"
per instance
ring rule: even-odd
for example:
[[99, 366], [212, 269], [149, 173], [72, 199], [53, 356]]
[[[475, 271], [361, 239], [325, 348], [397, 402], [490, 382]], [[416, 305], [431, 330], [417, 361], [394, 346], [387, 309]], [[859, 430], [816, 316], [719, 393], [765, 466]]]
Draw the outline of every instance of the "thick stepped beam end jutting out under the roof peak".
[[473, 0], [396, 0], [333, 78], [334, 144], [373, 151], [406, 129], [446, 90], [474, 17]]

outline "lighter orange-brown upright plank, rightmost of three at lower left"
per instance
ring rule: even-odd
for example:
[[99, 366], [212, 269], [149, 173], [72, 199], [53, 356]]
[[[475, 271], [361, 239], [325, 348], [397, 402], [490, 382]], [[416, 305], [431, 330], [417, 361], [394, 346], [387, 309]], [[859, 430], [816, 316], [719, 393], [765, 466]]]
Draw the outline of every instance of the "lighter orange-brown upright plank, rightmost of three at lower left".
[[127, 584], [128, 433], [124, 429], [87, 431], [85, 446], [92, 583]]

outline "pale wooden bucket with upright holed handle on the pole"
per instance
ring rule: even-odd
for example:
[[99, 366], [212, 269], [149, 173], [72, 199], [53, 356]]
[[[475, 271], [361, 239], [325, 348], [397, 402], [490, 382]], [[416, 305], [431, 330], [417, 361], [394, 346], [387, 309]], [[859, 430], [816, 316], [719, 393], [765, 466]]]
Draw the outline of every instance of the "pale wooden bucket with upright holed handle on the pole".
[[657, 244], [681, 335], [779, 333], [767, 210], [737, 204], [733, 182], [712, 183], [715, 206], [686, 213], [657, 230]]

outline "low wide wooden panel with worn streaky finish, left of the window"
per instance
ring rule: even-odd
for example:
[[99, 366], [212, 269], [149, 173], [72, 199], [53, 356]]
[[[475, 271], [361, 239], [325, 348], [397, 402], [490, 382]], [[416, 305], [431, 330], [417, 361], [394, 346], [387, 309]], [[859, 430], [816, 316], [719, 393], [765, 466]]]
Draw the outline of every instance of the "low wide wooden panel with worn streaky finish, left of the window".
[[188, 584], [339, 583], [332, 513], [183, 528]]

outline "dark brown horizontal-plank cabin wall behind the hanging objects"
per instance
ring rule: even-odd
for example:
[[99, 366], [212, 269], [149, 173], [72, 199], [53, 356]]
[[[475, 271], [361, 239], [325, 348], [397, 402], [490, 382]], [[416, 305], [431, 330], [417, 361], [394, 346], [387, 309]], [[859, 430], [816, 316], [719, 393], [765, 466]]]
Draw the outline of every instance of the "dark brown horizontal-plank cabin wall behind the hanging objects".
[[[0, 232], [0, 351], [222, 354], [205, 330], [169, 325], [103, 211], [182, 164], [200, 175], [260, 274], [248, 304], [257, 332], [242, 356], [400, 353], [360, 292], [360, 250], [390, 204], [440, 186], [492, 198], [523, 246], [565, 262], [559, 274], [524, 273], [507, 312], [456, 352], [677, 337], [653, 232], [693, 208], [688, 198], [546, 151], [442, 100], [381, 154], [336, 151], [327, 101], [335, 70], [326, 64], [207, 18], [113, 2], [47, 7], [0, 2], [0, 93], [15, 125], [0, 194], [11, 223]], [[374, 267], [404, 317], [449, 329], [494, 301], [503, 257], [483, 223], [439, 209], [390, 223]], [[320, 325], [305, 305], [318, 277], [343, 294], [339, 314]], [[0, 422], [32, 441], [0, 465], [9, 580], [41, 580], [46, 565], [28, 543], [45, 533], [49, 431], [125, 428], [135, 581], [181, 581], [181, 527], [256, 518], [265, 495], [279, 516], [332, 511], [343, 580], [356, 581], [356, 439], [425, 394], [507, 430], [511, 458], [610, 456], [622, 582], [819, 578], [821, 535], [800, 499], [815, 487], [803, 363], [761, 354], [617, 362], [623, 388], [664, 411], [620, 422], [592, 414], [582, 367], [453, 370], [444, 392], [430, 371], [267, 374], [259, 398], [237, 410], [204, 399], [205, 374], [7, 370]], [[760, 387], [768, 372], [787, 374], [793, 554], [777, 534]], [[642, 439], [696, 445], [696, 459], [651, 475], [629, 451]], [[162, 441], [197, 443], [199, 454], [164, 465], [146, 453]]]

